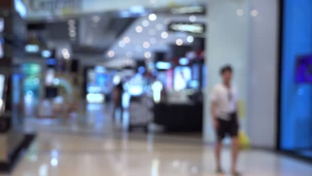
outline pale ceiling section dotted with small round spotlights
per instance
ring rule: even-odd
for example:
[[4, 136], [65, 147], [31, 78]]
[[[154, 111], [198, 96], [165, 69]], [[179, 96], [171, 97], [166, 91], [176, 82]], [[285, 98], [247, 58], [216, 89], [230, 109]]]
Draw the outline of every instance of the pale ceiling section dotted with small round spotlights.
[[[155, 51], [168, 51], [171, 44], [175, 44], [177, 39], [183, 40], [183, 45], [190, 45], [187, 42], [188, 36], [197, 37], [203, 34], [189, 34], [185, 32], [170, 32], [168, 31], [168, 24], [170, 22], [190, 22], [190, 15], [169, 15], [166, 13], [156, 13], [157, 20], [150, 21], [148, 16], [139, 17], [132, 23], [130, 27], [116, 40], [112, 46], [108, 49], [109, 51], [114, 51], [115, 55], [113, 58], [133, 58], [133, 59], [145, 59], [145, 53], [150, 52], [151, 55]], [[206, 24], [205, 15], [196, 15], [196, 23]], [[148, 26], [145, 27], [142, 23], [147, 23]], [[145, 24], [146, 25], [146, 24]], [[135, 31], [137, 26], [143, 28], [142, 32], [138, 33]], [[162, 32], [168, 33], [168, 38], [163, 39], [161, 37]], [[128, 44], [123, 44], [125, 38], [129, 38], [131, 41]], [[144, 48], [144, 43], [148, 42], [149, 47]], [[105, 55], [106, 58], [109, 56]], [[152, 58], [153, 56], [151, 56]]]

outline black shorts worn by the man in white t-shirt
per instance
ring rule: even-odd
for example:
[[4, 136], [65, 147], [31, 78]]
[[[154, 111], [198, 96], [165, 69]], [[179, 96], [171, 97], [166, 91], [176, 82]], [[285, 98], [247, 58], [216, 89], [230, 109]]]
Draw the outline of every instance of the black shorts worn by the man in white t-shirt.
[[237, 113], [231, 113], [229, 116], [230, 116], [229, 121], [218, 118], [219, 122], [219, 128], [217, 130], [218, 141], [223, 140], [226, 135], [229, 135], [230, 137], [238, 136], [239, 124], [237, 119], [238, 118]]

